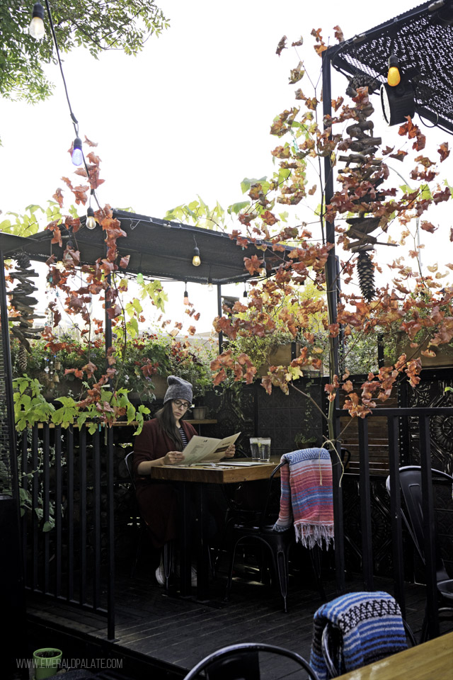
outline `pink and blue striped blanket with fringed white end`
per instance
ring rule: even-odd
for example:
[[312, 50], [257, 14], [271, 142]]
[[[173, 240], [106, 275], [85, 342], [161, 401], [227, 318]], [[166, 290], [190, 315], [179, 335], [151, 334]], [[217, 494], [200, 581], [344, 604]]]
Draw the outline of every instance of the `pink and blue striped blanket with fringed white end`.
[[275, 531], [294, 523], [296, 540], [306, 548], [333, 541], [332, 464], [325, 448], [284, 453], [280, 469], [282, 492]]

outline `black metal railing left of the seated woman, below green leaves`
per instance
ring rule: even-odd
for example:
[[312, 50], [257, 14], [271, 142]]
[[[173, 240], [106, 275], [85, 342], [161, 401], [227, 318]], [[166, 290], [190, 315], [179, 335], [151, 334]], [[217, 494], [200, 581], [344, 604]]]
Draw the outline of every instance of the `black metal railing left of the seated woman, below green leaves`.
[[111, 432], [35, 425], [19, 450], [25, 588], [106, 616], [113, 639]]

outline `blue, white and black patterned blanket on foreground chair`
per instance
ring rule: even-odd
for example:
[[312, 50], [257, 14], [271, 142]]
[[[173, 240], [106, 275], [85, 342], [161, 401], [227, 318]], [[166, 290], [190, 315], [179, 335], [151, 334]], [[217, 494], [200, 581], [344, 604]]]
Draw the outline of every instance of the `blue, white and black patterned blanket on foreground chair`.
[[343, 654], [334, 659], [340, 675], [407, 648], [401, 610], [391, 595], [383, 591], [341, 595], [314, 615], [310, 665], [319, 680], [330, 677], [321, 648], [328, 621], [343, 635]]

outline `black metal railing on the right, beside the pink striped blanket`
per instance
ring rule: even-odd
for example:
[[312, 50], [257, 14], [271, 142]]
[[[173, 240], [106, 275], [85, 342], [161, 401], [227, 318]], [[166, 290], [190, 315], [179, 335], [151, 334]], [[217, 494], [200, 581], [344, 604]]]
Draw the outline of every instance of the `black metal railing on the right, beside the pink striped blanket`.
[[[364, 587], [374, 589], [373, 549], [372, 549], [372, 486], [369, 467], [369, 437], [368, 424], [373, 416], [386, 418], [389, 448], [389, 477], [390, 477], [390, 517], [391, 544], [393, 558], [394, 595], [404, 614], [406, 610], [404, 596], [404, 559], [403, 532], [401, 516], [401, 493], [398, 480], [398, 468], [401, 466], [401, 426], [409, 418], [418, 421], [418, 464], [421, 467], [423, 494], [423, 526], [425, 536], [425, 584], [428, 612], [429, 636], [439, 635], [439, 619], [437, 613], [437, 584], [436, 584], [436, 548], [435, 548], [435, 508], [432, 486], [432, 458], [431, 458], [431, 424], [432, 417], [452, 418], [452, 407], [439, 408], [393, 408], [375, 409], [365, 419], [357, 420], [360, 442], [359, 475], [360, 475], [360, 521], [362, 533], [362, 576]], [[339, 430], [340, 416], [344, 416], [342, 409], [336, 410]], [[412, 425], [413, 426], [413, 425]], [[336, 573], [338, 591], [345, 591], [345, 557], [344, 557], [344, 527], [343, 527], [343, 489], [340, 485], [341, 465], [333, 455], [334, 479], [334, 512], [336, 521]]]

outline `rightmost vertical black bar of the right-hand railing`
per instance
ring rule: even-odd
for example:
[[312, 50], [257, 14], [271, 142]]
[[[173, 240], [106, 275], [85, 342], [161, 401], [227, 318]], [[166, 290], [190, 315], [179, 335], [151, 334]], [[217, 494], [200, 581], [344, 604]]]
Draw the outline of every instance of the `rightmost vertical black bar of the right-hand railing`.
[[419, 423], [428, 637], [437, 638], [439, 635], [439, 615], [437, 611], [435, 516], [434, 490], [432, 488], [431, 472], [430, 416], [420, 416]]

